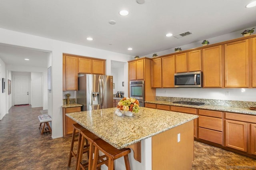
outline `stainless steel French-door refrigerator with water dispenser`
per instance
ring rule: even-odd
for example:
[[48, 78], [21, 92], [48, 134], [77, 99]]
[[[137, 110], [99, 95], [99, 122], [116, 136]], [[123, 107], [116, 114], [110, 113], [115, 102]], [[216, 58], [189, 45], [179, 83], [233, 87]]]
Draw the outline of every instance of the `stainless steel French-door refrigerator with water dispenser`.
[[113, 76], [79, 74], [77, 103], [82, 111], [113, 107]]

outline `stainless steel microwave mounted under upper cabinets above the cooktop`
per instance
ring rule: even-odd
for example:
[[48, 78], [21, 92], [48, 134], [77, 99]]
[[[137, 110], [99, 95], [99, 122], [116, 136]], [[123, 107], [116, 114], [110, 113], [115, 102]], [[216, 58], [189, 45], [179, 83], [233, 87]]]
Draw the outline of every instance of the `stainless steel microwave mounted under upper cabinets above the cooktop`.
[[175, 73], [174, 87], [202, 87], [202, 71]]

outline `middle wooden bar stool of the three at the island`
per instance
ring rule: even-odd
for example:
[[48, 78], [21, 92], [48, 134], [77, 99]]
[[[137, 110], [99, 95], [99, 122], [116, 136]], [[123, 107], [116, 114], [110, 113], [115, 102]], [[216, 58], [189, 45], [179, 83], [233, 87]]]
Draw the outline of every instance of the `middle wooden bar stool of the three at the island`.
[[[78, 152], [78, 165], [76, 166], [77, 170], [80, 170], [80, 168], [82, 168], [83, 170], [86, 170], [86, 167], [88, 166], [88, 170], [92, 169], [92, 157], [93, 157], [93, 152], [94, 152], [94, 146], [93, 146], [93, 142], [95, 140], [100, 139], [98, 136], [96, 136], [95, 134], [93, 134], [92, 132], [90, 132], [89, 130], [82, 130], [80, 132], [81, 134], [81, 142], [80, 142], [80, 150]], [[83, 150], [82, 150], [82, 146], [84, 146], [84, 142], [85, 140], [88, 141], [89, 144], [89, 156], [88, 156], [88, 164], [83, 165], [82, 164], [82, 157], [83, 157]]]

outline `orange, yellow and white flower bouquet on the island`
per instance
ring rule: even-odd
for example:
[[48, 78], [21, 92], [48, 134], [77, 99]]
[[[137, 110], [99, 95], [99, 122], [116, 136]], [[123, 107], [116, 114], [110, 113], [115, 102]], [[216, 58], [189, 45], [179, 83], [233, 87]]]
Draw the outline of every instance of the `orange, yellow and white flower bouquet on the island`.
[[118, 102], [117, 108], [120, 109], [120, 111], [131, 111], [133, 113], [138, 113], [139, 111], [140, 103], [137, 99], [124, 97], [122, 100]]

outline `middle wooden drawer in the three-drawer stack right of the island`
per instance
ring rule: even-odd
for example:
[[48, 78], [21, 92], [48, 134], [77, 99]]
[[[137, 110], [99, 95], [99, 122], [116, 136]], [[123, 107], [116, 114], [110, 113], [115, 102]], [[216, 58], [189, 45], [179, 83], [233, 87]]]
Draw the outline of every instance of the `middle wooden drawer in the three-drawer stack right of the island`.
[[199, 127], [209, 128], [222, 132], [222, 119], [215, 117], [199, 116]]

